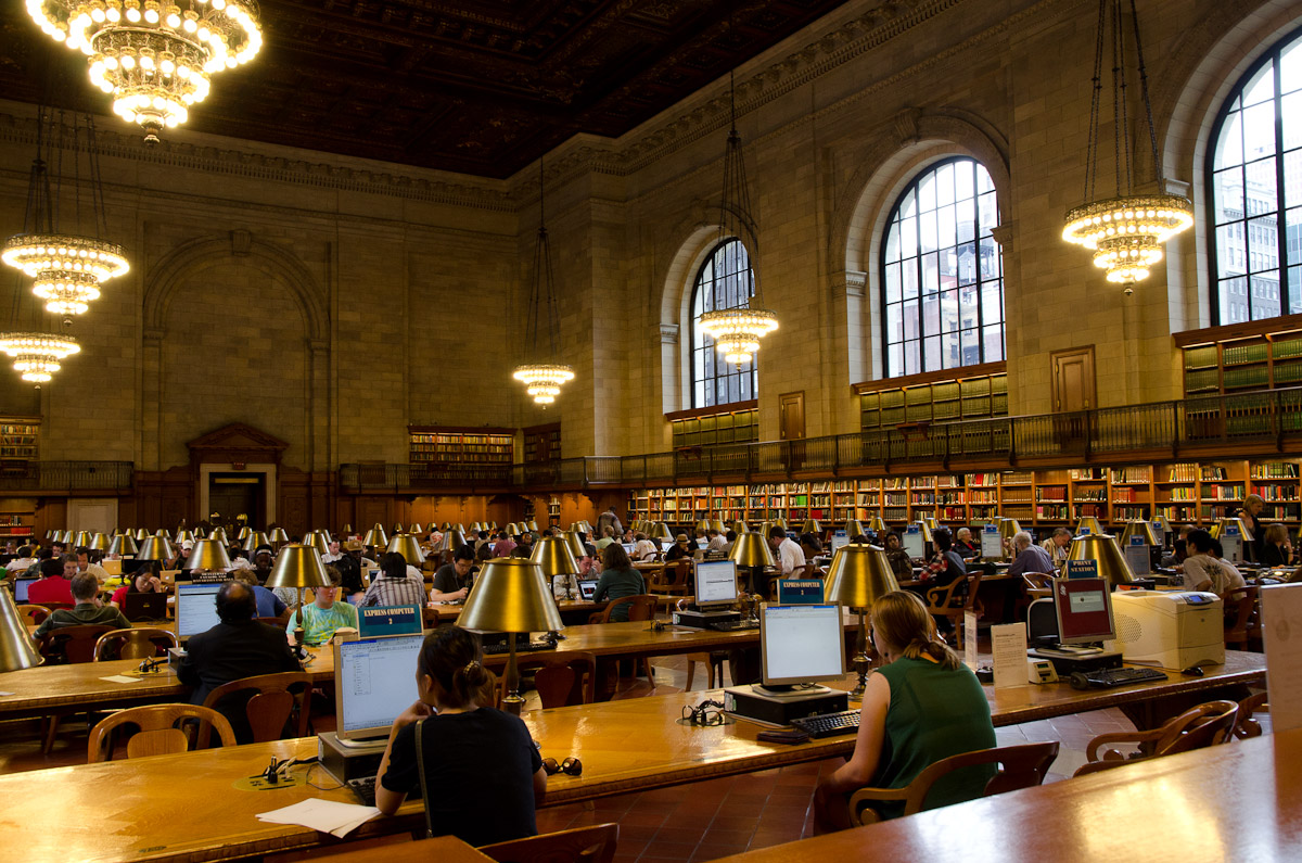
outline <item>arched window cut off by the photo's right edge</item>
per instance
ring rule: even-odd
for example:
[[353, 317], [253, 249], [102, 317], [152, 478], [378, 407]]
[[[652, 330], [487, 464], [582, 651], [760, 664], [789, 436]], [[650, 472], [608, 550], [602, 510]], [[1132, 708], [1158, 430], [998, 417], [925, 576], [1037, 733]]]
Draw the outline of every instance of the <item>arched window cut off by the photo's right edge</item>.
[[[1234, 87], [1207, 153], [1216, 323], [1302, 312], [1302, 35]], [[1288, 278], [1281, 275], [1286, 262]]]

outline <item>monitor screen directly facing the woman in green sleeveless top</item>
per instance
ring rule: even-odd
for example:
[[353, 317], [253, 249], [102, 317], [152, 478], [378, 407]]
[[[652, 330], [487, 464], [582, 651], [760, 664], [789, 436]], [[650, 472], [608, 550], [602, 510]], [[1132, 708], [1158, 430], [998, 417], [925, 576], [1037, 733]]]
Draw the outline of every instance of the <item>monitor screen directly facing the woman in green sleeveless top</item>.
[[764, 605], [759, 614], [764, 686], [832, 680], [845, 674], [838, 605]]

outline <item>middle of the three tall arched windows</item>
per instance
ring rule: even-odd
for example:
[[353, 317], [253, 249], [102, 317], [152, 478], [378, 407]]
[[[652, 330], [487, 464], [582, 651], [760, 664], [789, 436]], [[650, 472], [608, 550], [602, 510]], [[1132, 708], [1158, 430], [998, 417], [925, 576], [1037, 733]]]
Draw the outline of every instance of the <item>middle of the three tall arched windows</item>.
[[881, 244], [887, 377], [1004, 358], [995, 184], [974, 159], [928, 167], [891, 211]]

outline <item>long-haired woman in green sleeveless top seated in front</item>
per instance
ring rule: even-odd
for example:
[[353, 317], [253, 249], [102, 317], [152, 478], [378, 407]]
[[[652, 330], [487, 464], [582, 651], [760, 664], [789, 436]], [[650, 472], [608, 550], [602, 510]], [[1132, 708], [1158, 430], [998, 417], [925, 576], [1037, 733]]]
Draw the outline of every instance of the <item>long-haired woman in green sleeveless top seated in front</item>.
[[[901, 789], [936, 761], [995, 746], [990, 703], [976, 675], [936, 635], [915, 594], [894, 591], [872, 604], [872, 644], [883, 665], [868, 675], [854, 753], [814, 793], [818, 826], [850, 826], [849, 795], [861, 787]], [[986, 790], [993, 765], [967, 768], [940, 780], [924, 808], [971, 800]], [[876, 804], [897, 817], [904, 803]]]

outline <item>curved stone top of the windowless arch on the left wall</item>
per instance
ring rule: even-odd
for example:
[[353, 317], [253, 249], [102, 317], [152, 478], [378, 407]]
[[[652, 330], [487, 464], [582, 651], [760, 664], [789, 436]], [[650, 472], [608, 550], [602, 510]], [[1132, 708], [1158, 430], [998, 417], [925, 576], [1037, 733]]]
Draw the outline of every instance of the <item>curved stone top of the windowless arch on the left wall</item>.
[[329, 336], [329, 310], [326, 299], [307, 267], [280, 246], [253, 237], [246, 231], [232, 231], [229, 237], [201, 237], [167, 254], [150, 269], [145, 280], [145, 329], [165, 327], [168, 306], [176, 289], [187, 278], [208, 267], [246, 258], [250, 265], [276, 276], [303, 315], [303, 331], [312, 342]]

